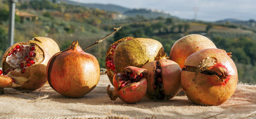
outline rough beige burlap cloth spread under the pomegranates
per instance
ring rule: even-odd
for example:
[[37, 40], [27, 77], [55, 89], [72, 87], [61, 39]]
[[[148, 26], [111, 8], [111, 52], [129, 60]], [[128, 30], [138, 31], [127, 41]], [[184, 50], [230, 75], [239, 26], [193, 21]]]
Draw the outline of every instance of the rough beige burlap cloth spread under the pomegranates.
[[0, 96], [0, 119], [248, 119], [256, 118], [256, 86], [239, 84], [235, 94], [222, 105], [195, 105], [184, 95], [167, 102], [155, 102], [144, 97], [135, 104], [126, 104], [119, 98], [109, 99], [106, 89], [108, 77], [102, 75], [93, 91], [82, 98], [68, 98], [58, 94], [49, 85], [36, 91], [5, 89]]

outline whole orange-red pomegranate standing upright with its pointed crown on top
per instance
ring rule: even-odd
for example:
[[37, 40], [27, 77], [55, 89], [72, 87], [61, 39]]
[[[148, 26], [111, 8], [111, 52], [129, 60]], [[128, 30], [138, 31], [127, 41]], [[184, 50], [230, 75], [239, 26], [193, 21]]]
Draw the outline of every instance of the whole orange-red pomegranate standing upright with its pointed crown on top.
[[66, 50], [56, 53], [47, 64], [49, 85], [67, 97], [82, 97], [99, 82], [97, 59], [85, 53], [74, 41]]

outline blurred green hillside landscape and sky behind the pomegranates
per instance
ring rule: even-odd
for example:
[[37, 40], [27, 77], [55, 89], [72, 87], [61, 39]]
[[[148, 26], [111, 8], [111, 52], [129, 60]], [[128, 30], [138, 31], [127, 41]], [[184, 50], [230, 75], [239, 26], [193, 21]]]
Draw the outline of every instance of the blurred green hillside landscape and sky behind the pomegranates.
[[[242, 83], [256, 83], [256, 1], [239, 1], [18, 0], [14, 42], [44, 36], [54, 39], [61, 50], [74, 40], [85, 48], [122, 25], [118, 33], [87, 50], [105, 68], [108, 47], [123, 37], [156, 39], [169, 55], [181, 37], [201, 34], [232, 52]], [[1, 59], [9, 47], [8, 29], [9, 1], [0, 0]]]

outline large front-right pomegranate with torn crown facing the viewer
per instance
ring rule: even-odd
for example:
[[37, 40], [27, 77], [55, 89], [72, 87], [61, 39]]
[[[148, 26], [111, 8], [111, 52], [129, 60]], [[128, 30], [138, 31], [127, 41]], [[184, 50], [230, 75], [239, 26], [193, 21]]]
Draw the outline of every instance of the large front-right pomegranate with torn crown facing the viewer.
[[235, 92], [236, 65], [224, 50], [205, 49], [190, 55], [181, 72], [181, 85], [195, 104], [221, 105]]

